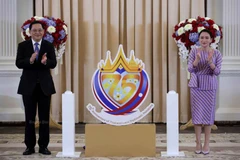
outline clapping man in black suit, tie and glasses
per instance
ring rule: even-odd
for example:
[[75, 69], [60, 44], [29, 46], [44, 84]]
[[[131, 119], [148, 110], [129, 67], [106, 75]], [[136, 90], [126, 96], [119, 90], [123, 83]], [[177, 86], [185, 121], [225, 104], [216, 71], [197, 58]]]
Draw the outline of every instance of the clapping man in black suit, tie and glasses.
[[[27, 146], [23, 155], [35, 153], [36, 134], [35, 117], [38, 108], [39, 117], [39, 153], [50, 155], [49, 114], [51, 95], [56, 93], [50, 69], [57, 61], [53, 45], [43, 40], [44, 27], [39, 21], [29, 26], [31, 39], [18, 45], [16, 66], [23, 69], [18, 87], [25, 108], [25, 139]], [[38, 107], [37, 107], [38, 106]]]

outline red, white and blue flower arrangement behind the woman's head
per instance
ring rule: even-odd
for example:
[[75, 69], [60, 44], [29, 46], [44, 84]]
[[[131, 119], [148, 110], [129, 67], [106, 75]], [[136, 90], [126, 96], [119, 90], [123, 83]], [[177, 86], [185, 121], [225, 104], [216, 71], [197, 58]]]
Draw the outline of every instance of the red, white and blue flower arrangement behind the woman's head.
[[172, 37], [179, 47], [182, 61], [187, 61], [191, 48], [200, 46], [198, 34], [203, 29], [208, 29], [212, 33], [214, 38], [211, 47], [216, 49], [222, 39], [222, 27], [218, 26], [211, 18], [198, 16], [197, 19], [186, 19], [175, 25]]

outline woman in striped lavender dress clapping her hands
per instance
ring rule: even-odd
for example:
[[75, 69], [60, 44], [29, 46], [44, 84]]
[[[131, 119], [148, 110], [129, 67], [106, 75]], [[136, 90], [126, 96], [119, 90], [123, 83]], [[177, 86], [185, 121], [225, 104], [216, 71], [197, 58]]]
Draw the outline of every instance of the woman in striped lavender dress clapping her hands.
[[[217, 76], [220, 74], [222, 55], [212, 49], [212, 33], [202, 30], [199, 33], [200, 48], [193, 48], [188, 59], [191, 79], [188, 86], [191, 93], [191, 113], [196, 135], [195, 153], [208, 154], [211, 125], [214, 124]], [[205, 141], [202, 147], [201, 132], [204, 126]]]

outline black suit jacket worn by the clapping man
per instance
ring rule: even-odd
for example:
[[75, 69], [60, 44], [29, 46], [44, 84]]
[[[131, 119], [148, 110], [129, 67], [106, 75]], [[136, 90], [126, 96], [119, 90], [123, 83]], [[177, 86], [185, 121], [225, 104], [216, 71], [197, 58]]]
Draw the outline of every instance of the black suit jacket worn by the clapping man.
[[[32, 40], [19, 43], [17, 50], [16, 66], [23, 69], [20, 79], [18, 94], [31, 95], [37, 83], [40, 83], [45, 95], [56, 93], [50, 69], [57, 65], [56, 55], [53, 45], [42, 40], [38, 60], [30, 64], [30, 57], [34, 53]], [[47, 53], [47, 64], [41, 63], [44, 53]]]

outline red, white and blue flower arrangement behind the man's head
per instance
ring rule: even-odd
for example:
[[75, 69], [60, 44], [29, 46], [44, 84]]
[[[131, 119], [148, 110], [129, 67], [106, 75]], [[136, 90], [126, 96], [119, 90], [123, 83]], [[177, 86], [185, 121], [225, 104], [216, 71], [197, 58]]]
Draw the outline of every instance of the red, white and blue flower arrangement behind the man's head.
[[61, 19], [53, 17], [32, 17], [25, 21], [22, 25], [21, 36], [23, 40], [30, 39], [29, 25], [33, 21], [41, 21], [43, 23], [45, 33], [43, 39], [53, 43], [55, 48], [56, 57], [60, 59], [65, 52], [65, 44], [67, 40], [67, 25]]

